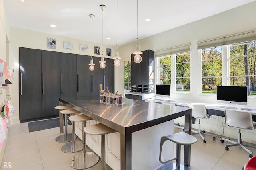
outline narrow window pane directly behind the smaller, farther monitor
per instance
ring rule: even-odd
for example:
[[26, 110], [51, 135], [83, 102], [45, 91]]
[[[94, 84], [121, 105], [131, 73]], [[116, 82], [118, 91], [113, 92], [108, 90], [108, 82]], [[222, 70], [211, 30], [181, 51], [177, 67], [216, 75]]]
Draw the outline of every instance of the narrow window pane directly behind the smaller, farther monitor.
[[172, 58], [159, 58], [159, 84], [171, 84]]

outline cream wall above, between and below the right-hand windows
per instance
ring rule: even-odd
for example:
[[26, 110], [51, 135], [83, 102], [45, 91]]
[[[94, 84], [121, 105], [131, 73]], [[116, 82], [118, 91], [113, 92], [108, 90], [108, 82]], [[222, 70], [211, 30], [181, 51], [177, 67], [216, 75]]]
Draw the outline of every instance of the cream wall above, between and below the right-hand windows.
[[[256, 2], [251, 2], [244, 6], [139, 40], [141, 51], [147, 49], [158, 51], [177, 45], [191, 44], [191, 94], [171, 94], [172, 98], [216, 103], [215, 95], [200, 94], [202, 86], [200, 83], [200, 59], [198, 57], [197, 42], [255, 30], [255, 7]], [[172, 21], [170, 21], [170, 24], [172, 24]], [[135, 50], [135, 45], [136, 42], [119, 47], [120, 56], [122, 58], [130, 57], [131, 53]], [[256, 98], [249, 98], [248, 106], [256, 107], [255, 102]], [[201, 123], [202, 129], [222, 135], [221, 121], [224, 121], [224, 118], [214, 118], [215, 119], [212, 117], [208, 120], [203, 120]], [[182, 124], [184, 120], [177, 119], [175, 122]], [[192, 125], [192, 127], [198, 128], [197, 123], [198, 122]], [[237, 138], [237, 133], [238, 131], [236, 129], [225, 126], [223, 135]], [[252, 135], [254, 137], [252, 137]], [[243, 140], [256, 143], [256, 131], [246, 131], [246, 133], [243, 133]]]

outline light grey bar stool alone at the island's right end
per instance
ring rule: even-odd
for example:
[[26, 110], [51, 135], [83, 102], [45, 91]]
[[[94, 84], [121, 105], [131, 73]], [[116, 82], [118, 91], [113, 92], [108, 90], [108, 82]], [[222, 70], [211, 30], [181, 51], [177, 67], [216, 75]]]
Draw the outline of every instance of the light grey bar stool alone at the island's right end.
[[[164, 142], [167, 140], [176, 143], [176, 148], [177, 148], [176, 157], [171, 158], [170, 160], [162, 161], [161, 160], [162, 146], [163, 146]], [[173, 135], [161, 137], [159, 161], [162, 164], [165, 164], [161, 170], [191, 170], [187, 166], [180, 164], [180, 147], [181, 147], [181, 145], [191, 145], [196, 142], [197, 142], [196, 137], [189, 135], [188, 133], [185, 133], [183, 131], [179, 132], [179, 133], [175, 133]], [[167, 162], [169, 162], [171, 160], [176, 160], [176, 164], [175, 163], [166, 164]], [[176, 166], [176, 169], [175, 169], [175, 166]]]

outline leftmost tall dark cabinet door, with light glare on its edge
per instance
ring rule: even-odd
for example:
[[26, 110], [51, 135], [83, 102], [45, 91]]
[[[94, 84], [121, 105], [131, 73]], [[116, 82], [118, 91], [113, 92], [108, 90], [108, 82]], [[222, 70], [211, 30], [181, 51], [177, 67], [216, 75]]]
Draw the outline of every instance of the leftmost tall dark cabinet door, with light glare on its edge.
[[42, 116], [41, 50], [19, 49], [20, 121]]

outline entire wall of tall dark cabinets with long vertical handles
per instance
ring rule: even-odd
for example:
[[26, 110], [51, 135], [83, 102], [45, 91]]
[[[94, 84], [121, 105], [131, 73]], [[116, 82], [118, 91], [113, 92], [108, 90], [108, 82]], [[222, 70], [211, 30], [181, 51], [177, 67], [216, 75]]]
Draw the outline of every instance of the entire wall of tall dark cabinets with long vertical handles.
[[20, 121], [58, 116], [60, 97], [99, 95], [100, 84], [114, 92], [114, 60], [101, 69], [100, 57], [93, 59], [90, 71], [90, 56], [20, 47]]

